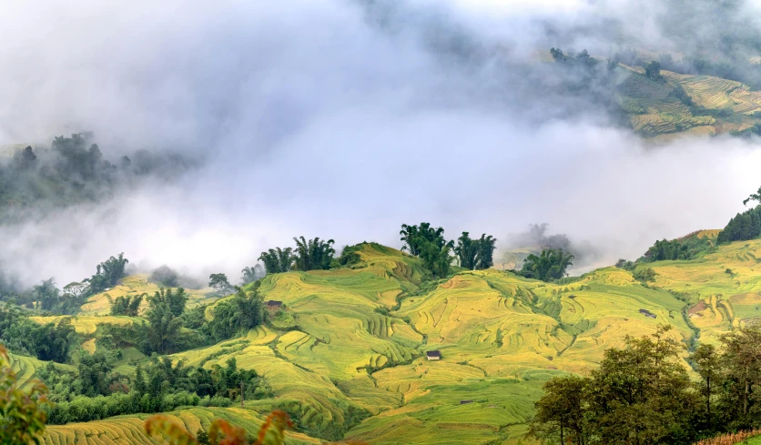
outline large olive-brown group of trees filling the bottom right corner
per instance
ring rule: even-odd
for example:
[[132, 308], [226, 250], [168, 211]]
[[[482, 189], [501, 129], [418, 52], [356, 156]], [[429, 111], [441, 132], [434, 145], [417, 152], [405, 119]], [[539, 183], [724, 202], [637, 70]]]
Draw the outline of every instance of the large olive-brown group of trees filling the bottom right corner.
[[533, 435], [563, 444], [677, 444], [761, 425], [761, 330], [725, 336], [721, 352], [698, 347], [689, 358], [701, 378], [695, 382], [669, 329], [627, 337], [624, 349], [607, 349], [586, 377], [548, 381]]

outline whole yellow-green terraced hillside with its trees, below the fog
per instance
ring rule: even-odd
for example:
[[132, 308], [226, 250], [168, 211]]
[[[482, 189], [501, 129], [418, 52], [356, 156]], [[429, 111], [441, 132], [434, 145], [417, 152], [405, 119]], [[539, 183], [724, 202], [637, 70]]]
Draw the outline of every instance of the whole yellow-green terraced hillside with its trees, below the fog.
[[[256, 430], [283, 410], [296, 443], [431, 445], [525, 443], [529, 430], [686, 443], [761, 417], [761, 370], [746, 354], [761, 342], [749, 329], [761, 317], [761, 240], [716, 247], [717, 231], [700, 231], [569, 278], [563, 249], [527, 258], [520, 274], [478, 268], [474, 246], [486, 241], [488, 258], [495, 243], [465, 233], [448, 259], [475, 268], [441, 277], [425, 249], [453, 244], [443, 229], [402, 230], [419, 257], [361, 243], [328, 270], [269, 273], [219, 299], [127, 277], [109, 291], [115, 315], [11, 305], [0, 340], [21, 381], [51, 388], [56, 444], [97, 429], [147, 441], [139, 427], [156, 412], [208, 434], [215, 418]], [[66, 354], [49, 355], [51, 336]]]

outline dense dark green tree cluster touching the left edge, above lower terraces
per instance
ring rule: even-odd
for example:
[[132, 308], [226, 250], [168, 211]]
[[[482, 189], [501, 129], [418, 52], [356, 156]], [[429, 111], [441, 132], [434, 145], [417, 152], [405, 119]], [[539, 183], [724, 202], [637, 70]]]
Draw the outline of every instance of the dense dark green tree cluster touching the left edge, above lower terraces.
[[20, 308], [12, 305], [0, 308], [0, 342], [17, 354], [66, 363], [76, 339], [70, 319], [41, 325]]

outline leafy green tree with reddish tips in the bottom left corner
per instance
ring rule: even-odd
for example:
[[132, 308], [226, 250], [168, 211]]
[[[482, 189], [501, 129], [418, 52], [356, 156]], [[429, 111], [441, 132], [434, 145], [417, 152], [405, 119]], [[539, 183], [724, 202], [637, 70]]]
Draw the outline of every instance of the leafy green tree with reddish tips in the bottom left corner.
[[0, 345], [0, 443], [40, 443], [45, 431], [47, 389], [39, 381], [19, 388], [7, 349]]

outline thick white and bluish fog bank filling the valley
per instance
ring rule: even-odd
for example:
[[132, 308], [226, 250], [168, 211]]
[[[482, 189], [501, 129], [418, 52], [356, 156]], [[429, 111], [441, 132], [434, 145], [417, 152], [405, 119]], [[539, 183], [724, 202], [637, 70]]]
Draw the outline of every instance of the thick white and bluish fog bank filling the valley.
[[[549, 46], [605, 49], [613, 2], [282, 3], [0, 6], [0, 143], [90, 130], [106, 157], [207, 159], [0, 228], [3, 268], [65, 284], [125, 252], [237, 280], [295, 236], [401, 247], [401, 223], [421, 221], [505, 240], [546, 222], [613, 264], [722, 228], [759, 185], [757, 141], [655, 147], [543, 83]], [[648, 5], [623, 32], [675, 45]]]

